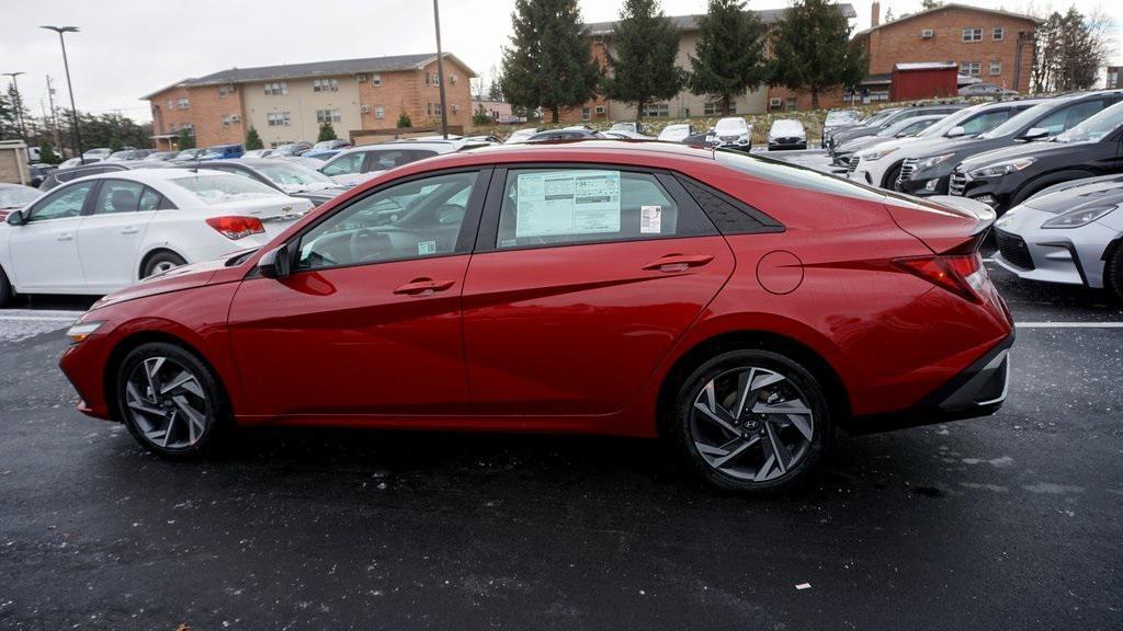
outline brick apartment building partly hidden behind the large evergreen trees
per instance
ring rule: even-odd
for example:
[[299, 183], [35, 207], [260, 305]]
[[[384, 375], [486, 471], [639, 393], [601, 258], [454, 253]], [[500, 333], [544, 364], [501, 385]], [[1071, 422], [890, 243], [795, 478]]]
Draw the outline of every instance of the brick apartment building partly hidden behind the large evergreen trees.
[[[853, 19], [853, 7], [840, 3], [842, 13]], [[765, 28], [783, 17], [784, 9], [756, 11]], [[697, 42], [697, 20], [702, 16], [676, 16], [670, 20], [682, 33], [676, 63], [690, 68], [690, 55]], [[889, 100], [897, 64], [955, 63], [964, 82], [994, 83], [999, 88], [1026, 92], [1033, 67], [1033, 30], [1040, 20], [1029, 16], [967, 4], [943, 4], [880, 24], [880, 4], [874, 2], [871, 22], [855, 34], [853, 40], [869, 55], [869, 74], [861, 88], [873, 100]], [[602, 64], [613, 51], [615, 22], [585, 25], [593, 56]], [[909, 66], [905, 66], [909, 67]], [[935, 95], [935, 94], [932, 94]], [[843, 104], [850, 98], [842, 90], [819, 95], [823, 108]], [[767, 110], [809, 109], [810, 93], [796, 93], [782, 86], [748, 91], [736, 99], [736, 113], [761, 113]], [[705, 97], [683, 91], [674, 99], [647, 106], [645, 117], [709, 116], [719, 110]], [[565, 120], [631, 120], [634, 109], [623, 103], [596, 98], [565, 113]]]

